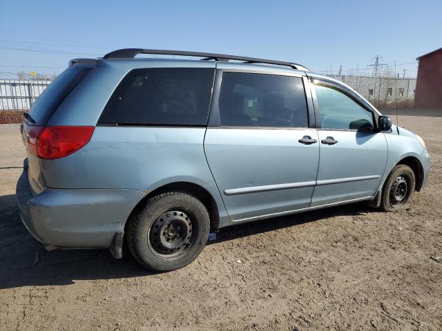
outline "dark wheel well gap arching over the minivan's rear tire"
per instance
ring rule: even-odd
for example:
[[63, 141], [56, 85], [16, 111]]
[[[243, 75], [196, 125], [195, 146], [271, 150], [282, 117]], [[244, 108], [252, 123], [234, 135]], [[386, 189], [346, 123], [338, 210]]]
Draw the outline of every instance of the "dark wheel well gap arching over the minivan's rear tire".
[[[220, 226], [220, 214], [218, 213], [218, 205], [215, 202], [215, 199], [213, 199], [212, 195], [202, 186], [190, 183], [187, 181], [178, 181], [175, 183], [169, 183], [163, 186], [160, 186], [159, 188], [156, 188], [155, 190], [149, 192], [146, 197], [144, 197], [135, 208], [133, 208], [133, 211], [131, 212], [131, 215], [136, 212], [139, 208], [142, 208], [144, 205], [144, 202], [151, 197], [160, 194], [165, 191], [169, 190], [182, 190], [189, 192], [193, 194], [195, 197], [200, 199], [200, 201], [204, 204], [204, 206], [207, 208], [207, 212], [209, 212], [210, 217], [210, 230], [215, 231], [218, 230]], [[130, 218], [131, 216], [129, 216]], [[127, 222], [126, 222], [127, 223]]]

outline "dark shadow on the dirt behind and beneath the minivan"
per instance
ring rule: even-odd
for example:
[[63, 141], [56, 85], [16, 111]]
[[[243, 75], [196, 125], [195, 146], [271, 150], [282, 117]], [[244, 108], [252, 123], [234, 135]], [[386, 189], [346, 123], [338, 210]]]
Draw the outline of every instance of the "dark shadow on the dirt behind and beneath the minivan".
[[[365, 205], [304, 212], [221, 229], [215, 245], [254, 234], [288, 228], [338, 215], [357, 215], [376, 210]], [[24, 227], [15, 195], [0, 196], [0, 289], [35, 285], [70, 285], [78, 280], [126, 279], [155, 274], [142, 268], [124, 250], [123, 259], [113, 259], [109, 250], [52, 250], [47, 252]]]

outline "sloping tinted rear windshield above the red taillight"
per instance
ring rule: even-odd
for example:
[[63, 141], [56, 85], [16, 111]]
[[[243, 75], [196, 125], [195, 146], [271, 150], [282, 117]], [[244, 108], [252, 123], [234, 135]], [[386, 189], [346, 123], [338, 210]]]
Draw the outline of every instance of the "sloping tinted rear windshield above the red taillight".
[[45, 125], [52, 114], [68, 94], [77, 86], [91, 68], [70, 66], [61, 72], [50, 86], [40, 94], [40, 97], [30, 108], [30, 115], [37, 125]]

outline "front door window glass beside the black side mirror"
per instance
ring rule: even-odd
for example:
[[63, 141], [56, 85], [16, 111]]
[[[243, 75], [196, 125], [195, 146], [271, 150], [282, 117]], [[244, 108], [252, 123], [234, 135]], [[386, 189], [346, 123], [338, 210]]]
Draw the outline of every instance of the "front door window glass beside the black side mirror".
[[323, 129], [373, 130], [373, 114], [347, 95], [327, 88], [315, 86]]

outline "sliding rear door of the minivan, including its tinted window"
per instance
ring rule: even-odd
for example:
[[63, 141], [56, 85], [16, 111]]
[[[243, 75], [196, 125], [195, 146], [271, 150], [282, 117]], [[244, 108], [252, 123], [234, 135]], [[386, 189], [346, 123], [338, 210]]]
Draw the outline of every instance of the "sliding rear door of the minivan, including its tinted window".
[[217, 73], [204, 150], [233, 221], [306, 208], [319, 143], [300, 75]]

